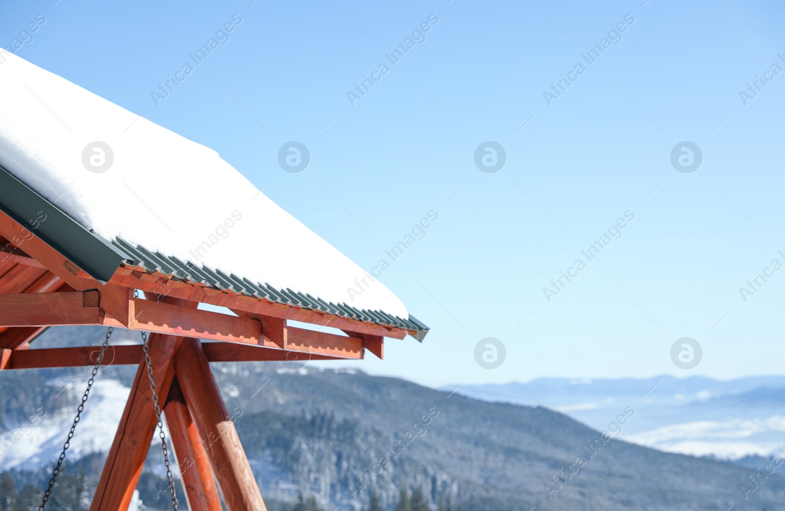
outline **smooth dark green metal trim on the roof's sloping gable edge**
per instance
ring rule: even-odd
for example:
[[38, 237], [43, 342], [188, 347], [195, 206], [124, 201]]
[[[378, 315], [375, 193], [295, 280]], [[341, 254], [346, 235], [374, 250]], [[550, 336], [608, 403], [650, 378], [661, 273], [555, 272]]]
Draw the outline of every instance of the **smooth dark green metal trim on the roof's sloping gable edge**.
[[107, 283], [122, 261], [129, 258], [2, 166], [0, 210], [100, 283]]

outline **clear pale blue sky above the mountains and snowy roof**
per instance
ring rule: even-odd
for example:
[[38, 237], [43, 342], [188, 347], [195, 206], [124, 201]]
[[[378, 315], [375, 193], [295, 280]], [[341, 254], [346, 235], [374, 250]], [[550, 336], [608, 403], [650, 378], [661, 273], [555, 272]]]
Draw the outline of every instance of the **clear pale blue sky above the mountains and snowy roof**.
[[[388, 341], [364, 370], [429, 385], [783, 374], [785, 270], [766, 270], [747, 301], [739, 292], [785, 264], [781, 4], [251, 2], [16, 2], [0, 43], [28, 41], [20, 57], [214, 148], [369, 270], [435, 211], [382, 276], [432, 331]], [[210, 38], [225, 42], [195, 64]], [[392, 64], [407, 38], [421, 42]], [[745, 101], [758, 75], [771, 80]], [[549, 100], [562, 76], [575, 81]], [[304, 172], [279, 166], [287, 141], [309, 148]], [[475, 164], [486, 141], [506, 151], [498, 172]], [[703, 153], [692, 173], [670, 161], [682, 141]], [[157, 185], [233, 200], [209, 183]], [[543, 288], [579, 258], [586, 268], [548, 301]], [[506, 347], [493, 370], [474, 356], [488, 337]], [[691, 370], [670, 358], [683, 337], [703, 348]]]

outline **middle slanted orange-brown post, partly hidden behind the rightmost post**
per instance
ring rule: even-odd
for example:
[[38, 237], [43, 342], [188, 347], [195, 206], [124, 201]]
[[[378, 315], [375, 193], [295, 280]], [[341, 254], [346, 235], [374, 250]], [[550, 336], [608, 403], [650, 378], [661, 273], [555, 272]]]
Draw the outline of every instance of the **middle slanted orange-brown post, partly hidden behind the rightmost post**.
[[210, 461], [177, 380], [172, 385], [169, 399], [164, 413], [188, 496], [188, 508], [191, 511], [221, 511], [221, 498], [218, 497], [213, 469], [210, 468]]

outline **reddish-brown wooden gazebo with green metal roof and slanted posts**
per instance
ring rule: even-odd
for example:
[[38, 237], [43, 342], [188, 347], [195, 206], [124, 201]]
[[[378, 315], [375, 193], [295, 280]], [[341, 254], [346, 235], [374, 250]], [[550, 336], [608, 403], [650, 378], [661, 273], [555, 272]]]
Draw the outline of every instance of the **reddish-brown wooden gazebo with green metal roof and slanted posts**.
[[[32, 66], [13, 58], [24, 64], [12, 64]], [[27, 78], [25, 85], [32, 90], [36, 84]], [[0, 81], [0, 89], [4, 86]], [[52, 112], [57, 108], [50, 106]], [[0, 121], [0, 141], [7, 135], [2, 128]], [[47, 144], [46, 133], [40, 144]], [[57, 206], [59, 197], [27, 184], [24, 171], [6, 161], [24, 165], [5, 151], [0, 145], [5, 166], [0, 167], [0, 369], [95, 363], [94, 346], [30, 349], [31, 341], [51, 326], [151, 332], [155, 386], [193, 511], [220, 511], [219, 489], [230, 511], [265, 509], [210, 362], [357, 360], [365, 350], [382, 358], [384, 338], [411, 334], [422, 341], [427, 333], [411, 316], [355, 308], [307, 290], [257, 283], [232, 268], [224, 272], [184, 261], [120, 236], [108, 239]], [[263, 236], [264, 226], [259, 228]], [[135, 290], [144, 297], [134, 297]], [[228, 311], [203, 310], [199, 304]], [[337, 328], [345, 335], [292, 327], [287, 320]], [[139, 368], [90, 511], [128, 509], [157, 422], [142, 345], [113, 349], [114, 364]]]

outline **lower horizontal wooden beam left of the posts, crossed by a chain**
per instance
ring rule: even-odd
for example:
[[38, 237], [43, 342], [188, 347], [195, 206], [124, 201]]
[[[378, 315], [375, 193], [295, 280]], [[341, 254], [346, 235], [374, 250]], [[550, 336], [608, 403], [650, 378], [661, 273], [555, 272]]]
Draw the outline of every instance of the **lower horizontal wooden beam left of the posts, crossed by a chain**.
[[[100, 352], [97, 346], [79, 348], [15, 349], [5, 369], [42, 369], [44, 367], [92, 366]], [[140, 363], [141, 345], [110, 345], [104, 353], [102, 367]]]

